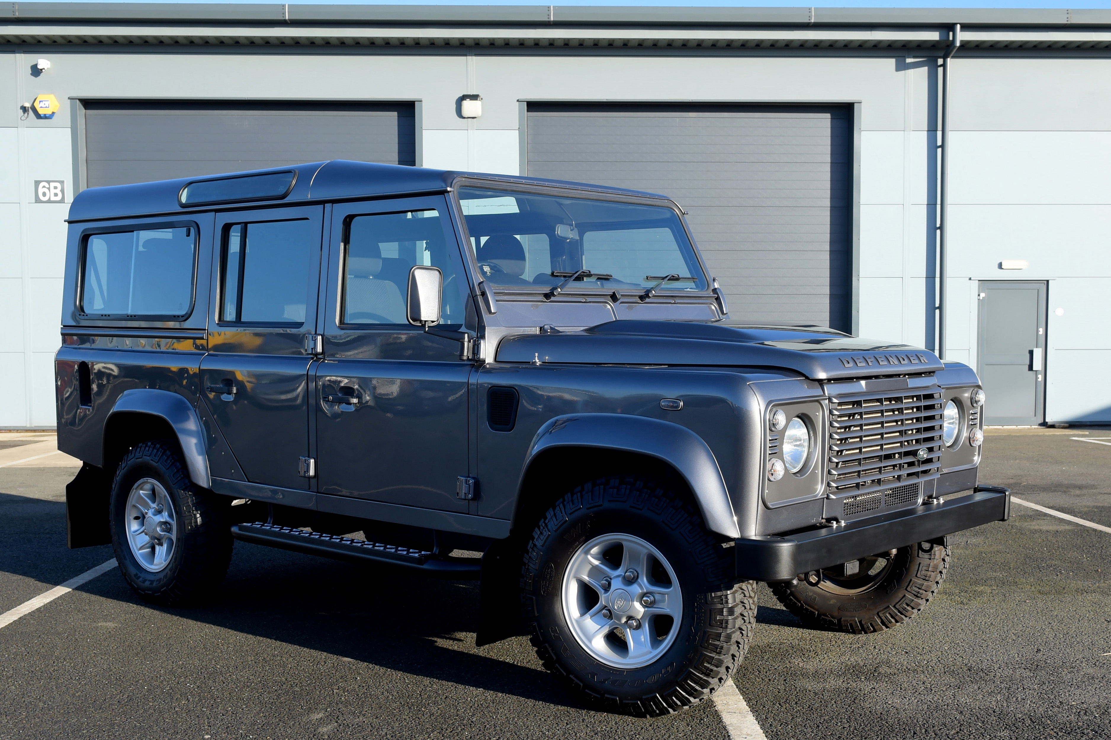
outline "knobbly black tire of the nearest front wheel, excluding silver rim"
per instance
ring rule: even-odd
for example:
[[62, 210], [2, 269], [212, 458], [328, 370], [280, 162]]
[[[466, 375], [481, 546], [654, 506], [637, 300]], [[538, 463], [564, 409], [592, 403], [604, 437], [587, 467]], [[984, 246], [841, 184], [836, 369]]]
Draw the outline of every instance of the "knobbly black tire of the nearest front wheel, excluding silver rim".
[[[663, 554], [683, 599], [679, 631], [642, 668], [619, 670], [575, 640], [562, 609], [568, 562], [588, 540], [622, 533]], [[755, 624], [755, 584], [734, 582], [733, 548], [705, 530], [675, 486], [644, 476], [609, 476], [567, 494], [540, 520], [524, 557], [522, 612], [544, 668], [595, 709], [661, 716], [692, 707], [730, 680]]]

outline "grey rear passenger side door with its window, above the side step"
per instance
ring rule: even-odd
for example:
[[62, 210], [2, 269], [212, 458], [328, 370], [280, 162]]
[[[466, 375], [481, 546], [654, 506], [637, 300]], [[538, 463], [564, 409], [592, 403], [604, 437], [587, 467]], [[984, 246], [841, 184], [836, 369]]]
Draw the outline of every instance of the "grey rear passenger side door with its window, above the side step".
[[323, 206], [217, 216], [201, 397], [251, 483], [308, 489], [308, 342], [316, 333]]

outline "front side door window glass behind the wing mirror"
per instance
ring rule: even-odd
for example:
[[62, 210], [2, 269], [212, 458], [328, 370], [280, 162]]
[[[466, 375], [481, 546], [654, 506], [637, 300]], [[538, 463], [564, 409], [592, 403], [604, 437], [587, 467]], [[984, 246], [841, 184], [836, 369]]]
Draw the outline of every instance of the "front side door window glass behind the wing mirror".
[[354, 216], [347, 224], [341, 324], [404, 324], [409, 271], [443, 272], [443, 324], [463, 323], [462, 265], [439, 211]]

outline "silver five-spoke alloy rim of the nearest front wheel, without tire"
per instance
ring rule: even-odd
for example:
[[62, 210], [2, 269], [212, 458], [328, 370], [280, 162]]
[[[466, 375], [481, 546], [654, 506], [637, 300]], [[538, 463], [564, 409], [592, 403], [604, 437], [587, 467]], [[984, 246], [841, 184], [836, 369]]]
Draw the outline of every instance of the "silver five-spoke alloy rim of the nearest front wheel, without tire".
[[639, 537], [612, 534], [590, 540], [571, 556], [562, 588], [571, 633], [607, 666], [647, 666], [679, 632], [683, 597], [675, 571]]

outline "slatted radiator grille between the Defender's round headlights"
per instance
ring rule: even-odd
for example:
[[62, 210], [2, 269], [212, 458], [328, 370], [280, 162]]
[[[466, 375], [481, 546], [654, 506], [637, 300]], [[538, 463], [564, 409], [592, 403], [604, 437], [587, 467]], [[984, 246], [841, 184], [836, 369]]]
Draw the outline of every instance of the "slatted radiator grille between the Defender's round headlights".
[[831, 397], [830, 491], [901, 489], [938, 477], [941, 413], [938, 387]]

